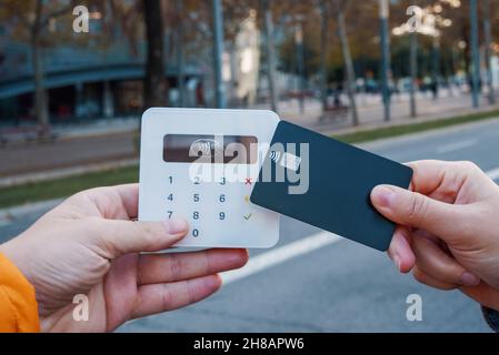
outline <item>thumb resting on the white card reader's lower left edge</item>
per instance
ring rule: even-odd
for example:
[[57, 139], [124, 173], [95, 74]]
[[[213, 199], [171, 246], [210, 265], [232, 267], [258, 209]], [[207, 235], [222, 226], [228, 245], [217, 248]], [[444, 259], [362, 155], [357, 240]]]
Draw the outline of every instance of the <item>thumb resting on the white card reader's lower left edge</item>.
[[157, 252], [171, 247], [186, 236], [189, 225], [183, 219], [166, 222], [102, 220], [98, 245], [109, 258], [128, 253]]

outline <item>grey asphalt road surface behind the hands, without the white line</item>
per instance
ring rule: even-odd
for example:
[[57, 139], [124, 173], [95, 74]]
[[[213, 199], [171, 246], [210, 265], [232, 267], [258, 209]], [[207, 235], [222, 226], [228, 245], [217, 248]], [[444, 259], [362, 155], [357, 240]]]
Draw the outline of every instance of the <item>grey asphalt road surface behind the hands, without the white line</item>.
[[[470, 160], [492, 171], [499, 168], [499, 120], [363, 148], [401, 162]], [[27, 215], [0, 226], [0, 241], [16, 235], [37, 216]], [[323, 243], [308, 251], [303, 247], [307, 243], [301, 243], [272, 264], [276, 255], [269, 253], [300, 244], [319, 232], [282, 219], [278, 248], [251, 253], [252, 260], [262, 258], [259, 267], [252, 265], [252, 272], [236, 275], [237, 280], [232, 277], [218, 294], [197, 305], [131, 321], [119, 331], [489, 332], [479, 306], [459, 292], [419, 285], [411, 276], [400, 275], [385, 254], [353, 242]], [[422, 298], [421, 322], [406, 318], [410, 294]]]

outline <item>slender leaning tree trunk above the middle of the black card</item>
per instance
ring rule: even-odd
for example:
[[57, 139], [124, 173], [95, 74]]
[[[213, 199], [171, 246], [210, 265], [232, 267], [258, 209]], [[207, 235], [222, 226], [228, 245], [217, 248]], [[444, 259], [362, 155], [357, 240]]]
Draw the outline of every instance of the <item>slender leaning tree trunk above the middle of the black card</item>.
[[358, 125], [359, 116], [357, 113], [357, 104], [356, 104], [356, 72], [353, 70], [353, 61], [351, 59], [350, 45], [348, 43], [347, 26], [345, 24], [343, 9], [338, 10], [337, 21], [338, 21], [338, 37], [341, 43], [341, 52], [343, 53], [345, 67], [347, 68], [347, 94], [350, 101], [352, 124]]

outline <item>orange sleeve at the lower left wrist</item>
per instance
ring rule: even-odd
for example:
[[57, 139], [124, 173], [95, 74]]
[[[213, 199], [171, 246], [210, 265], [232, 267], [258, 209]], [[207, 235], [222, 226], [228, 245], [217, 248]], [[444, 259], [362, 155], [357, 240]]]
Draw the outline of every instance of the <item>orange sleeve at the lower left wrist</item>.
[[40, 332], [33, 286], [0, 253], [0, 332]]

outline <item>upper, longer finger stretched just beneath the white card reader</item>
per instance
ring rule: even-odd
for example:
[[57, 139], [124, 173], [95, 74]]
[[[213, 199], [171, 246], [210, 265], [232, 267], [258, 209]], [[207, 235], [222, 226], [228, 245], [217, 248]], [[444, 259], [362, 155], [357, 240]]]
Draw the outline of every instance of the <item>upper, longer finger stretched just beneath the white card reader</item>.
[[211, 275], [241, 267], [248, 262], [246, 250], [221, 250], [191, 253], [141, 255], [138, 284], [168, 283]]

